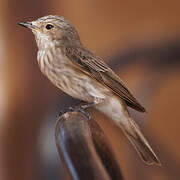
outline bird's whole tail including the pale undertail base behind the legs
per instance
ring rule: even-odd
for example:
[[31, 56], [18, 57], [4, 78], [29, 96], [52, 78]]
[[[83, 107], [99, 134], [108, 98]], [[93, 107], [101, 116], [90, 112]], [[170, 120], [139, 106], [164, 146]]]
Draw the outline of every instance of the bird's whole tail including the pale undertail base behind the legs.
[[142, 134], [139, 126], [133, 119], [130, 118], [123, 103], [121, 103], [118, 99], [113, 98], [106, 105], [99, 106], [97, 109], [114, 120], [146, 164], [161, 165], [156, 154]]

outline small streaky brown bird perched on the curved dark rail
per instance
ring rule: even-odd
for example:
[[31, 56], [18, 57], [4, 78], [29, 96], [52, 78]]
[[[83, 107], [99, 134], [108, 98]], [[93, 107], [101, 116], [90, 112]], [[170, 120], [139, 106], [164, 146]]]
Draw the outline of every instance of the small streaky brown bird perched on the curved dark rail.
[[145, 164], [161, 165], [127, 109], [144, 113], [145, 108], [103, 59], [82, 44], [72, 23], [63, 16], [48, 15], [18, 24], [34, 34], [40, 70], [57, 88], [109, 117]]

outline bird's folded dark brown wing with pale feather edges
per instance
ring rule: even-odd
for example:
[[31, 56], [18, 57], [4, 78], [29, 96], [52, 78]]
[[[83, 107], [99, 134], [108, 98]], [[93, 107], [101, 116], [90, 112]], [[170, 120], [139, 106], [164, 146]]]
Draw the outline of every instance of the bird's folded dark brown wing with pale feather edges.
[[122, 98], [128, 106], [140, 112], [146, 111], [133, 97], [119, 76], [117, 76], [99, 57], [96, 57], [93, 53], [84, 48], [67, 48], [66, 55], [73, 64], [111, 89], [116, 95]]

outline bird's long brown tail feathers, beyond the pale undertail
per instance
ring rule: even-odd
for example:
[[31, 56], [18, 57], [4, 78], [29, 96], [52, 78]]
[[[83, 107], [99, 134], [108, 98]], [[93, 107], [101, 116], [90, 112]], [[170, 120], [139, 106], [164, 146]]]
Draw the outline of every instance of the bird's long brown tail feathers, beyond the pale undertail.
[[141, 133], [138, 125], [130, 118], [129, 125], [130, 127], [122, 128], [122, 130], [132, 145], [135, 147], [141, 159], [148, 165], [156, 164], [161, 166], [161, 162], [150, 147], [146, 138]]

